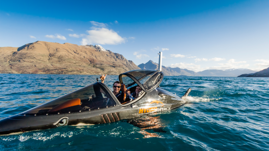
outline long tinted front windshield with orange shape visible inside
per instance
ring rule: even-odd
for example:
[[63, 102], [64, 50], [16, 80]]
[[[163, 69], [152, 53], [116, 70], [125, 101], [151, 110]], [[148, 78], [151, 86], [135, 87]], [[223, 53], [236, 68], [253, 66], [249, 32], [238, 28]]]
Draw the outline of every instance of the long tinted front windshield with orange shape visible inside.
[[106, 89], [100, 86], [100, 84], [94, 83], [45, 104], [34, 107], [22, 114], [52, 115], [58, 113], [89, 111], [114, 106], [116, 106], [116, 102], [112, 99]]

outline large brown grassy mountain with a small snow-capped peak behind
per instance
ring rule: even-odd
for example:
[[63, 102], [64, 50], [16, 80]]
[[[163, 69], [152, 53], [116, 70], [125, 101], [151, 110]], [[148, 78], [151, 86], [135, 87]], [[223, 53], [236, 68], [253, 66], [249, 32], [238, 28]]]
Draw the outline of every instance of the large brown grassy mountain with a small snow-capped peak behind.
[[99, 45], [37, 41], [19, 48], [0, 47], [0, 73], [110, 74], [140, 69], [121, 54]]

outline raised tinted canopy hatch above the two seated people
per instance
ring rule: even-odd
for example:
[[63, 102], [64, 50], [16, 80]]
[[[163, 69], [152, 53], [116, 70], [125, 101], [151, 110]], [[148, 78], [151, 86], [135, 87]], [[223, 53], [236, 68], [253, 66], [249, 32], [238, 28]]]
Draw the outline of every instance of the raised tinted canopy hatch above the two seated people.
[[[131, 78], [131, 83], [126, 83], [125, 77]], [[163, 73], [156, 70], [132, 70], [119, 75], [120, 83], [125, 82], [126, 88], [137, 83], [145, 92], [151, 92], [163, 81]]]

